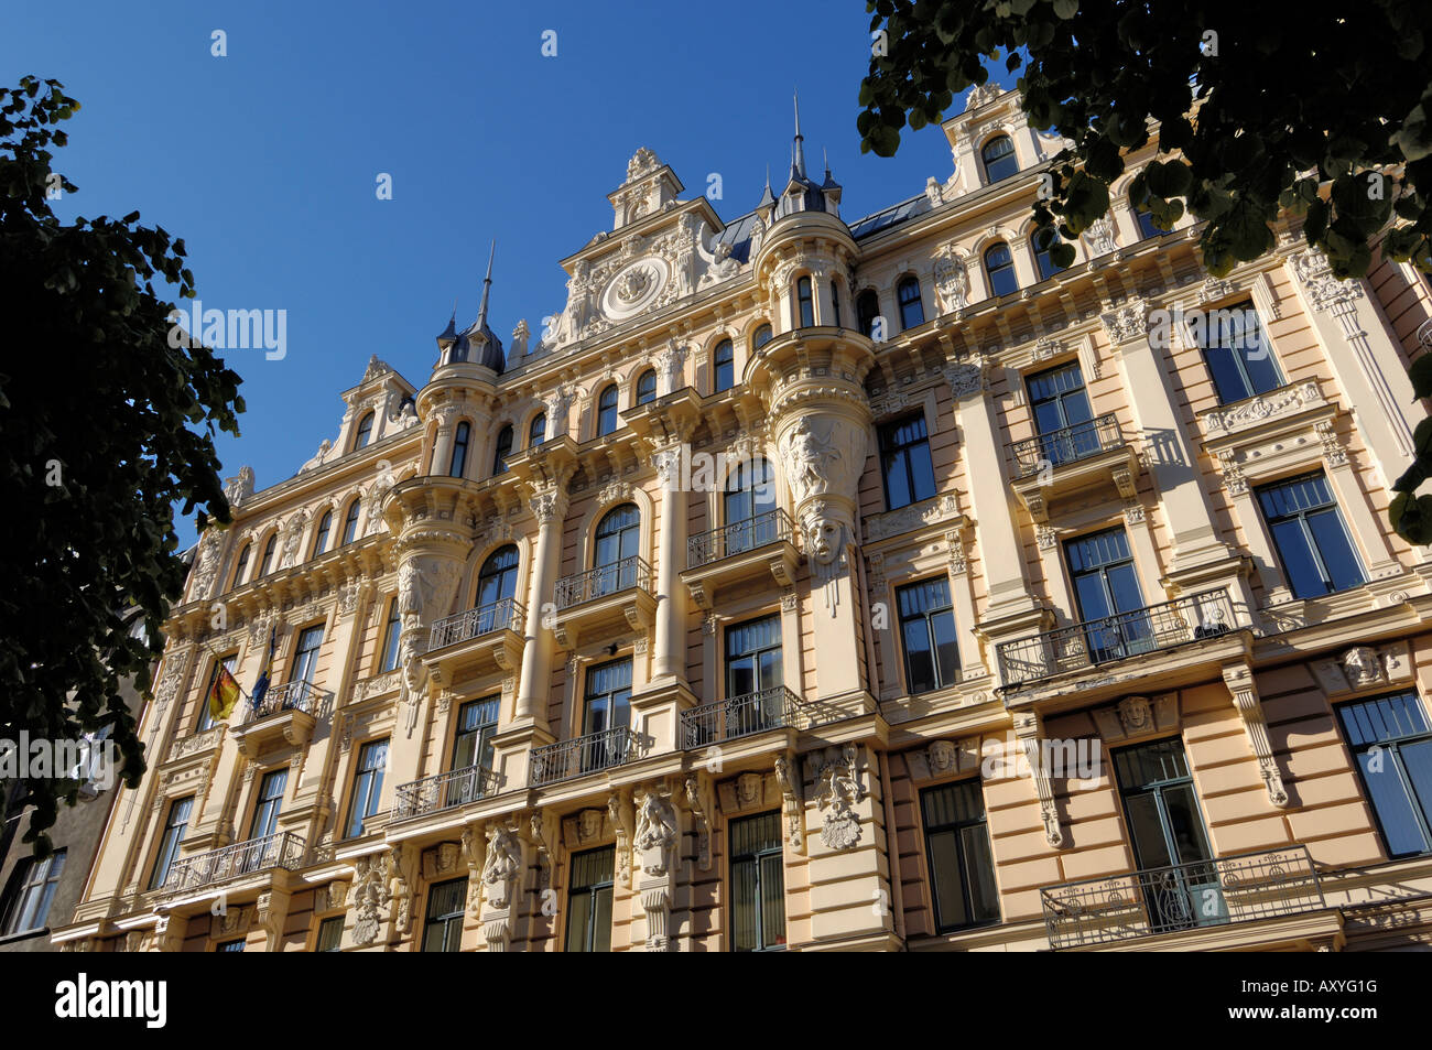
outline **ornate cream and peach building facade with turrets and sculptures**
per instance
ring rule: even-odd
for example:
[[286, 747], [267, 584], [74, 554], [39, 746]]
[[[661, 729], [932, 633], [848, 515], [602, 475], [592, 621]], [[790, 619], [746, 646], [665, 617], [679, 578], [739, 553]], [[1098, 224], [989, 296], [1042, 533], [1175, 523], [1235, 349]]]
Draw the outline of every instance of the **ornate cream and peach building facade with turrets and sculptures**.
[[[1425, 276], [1282, 225], [1209, 278], [1127, 176], [1060, 271], [1060, 143], [981, 89], [944, 132], [855, 222], [799, 125], [729, 223], [642, 149], [538, 335], [488, 281], [421, 387], [374, 358], [233, 478], [53, 940], [1432, 943]], [[221, 663], [272, 685], [211, 723]]]

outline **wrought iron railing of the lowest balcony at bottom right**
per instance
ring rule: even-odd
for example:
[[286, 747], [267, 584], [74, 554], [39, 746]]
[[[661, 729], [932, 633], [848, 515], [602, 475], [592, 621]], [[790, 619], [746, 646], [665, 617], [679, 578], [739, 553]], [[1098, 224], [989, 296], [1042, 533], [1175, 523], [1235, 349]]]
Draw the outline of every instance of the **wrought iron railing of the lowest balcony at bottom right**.
[[1055, 951], [1327, 907], [1305, 845], [1064, 882], [1040, 901]]

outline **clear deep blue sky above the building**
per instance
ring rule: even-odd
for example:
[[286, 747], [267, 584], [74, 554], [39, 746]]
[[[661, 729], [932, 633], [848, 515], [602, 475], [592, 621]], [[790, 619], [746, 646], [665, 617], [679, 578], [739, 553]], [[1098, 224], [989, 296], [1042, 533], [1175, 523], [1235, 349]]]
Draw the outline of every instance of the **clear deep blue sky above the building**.
[[557, 261], [610, 229], [606, 195], [637, 146], [687, 199], [719, 172], [729, 221], [755, 206], [766, 165], [785, 176], [799, 87], [806, 155], [829, 150], [848, 221], [951, 172], [938, 127], [906, 132], [895, 159], [861, 155], [859, 0], [84, 0], [9, 4], [4, 24], [4, 83], [54, 77], [82, 103], [57, 155], [80, 192], [57, 212], [137, 208], [185, 239], [205, 307], [288, 311], [282, 361], [226, 357], [248, 411], [219, 456], [226, 474], [252, 464], [261, 488], [337, 435], [338, 394], [369, 354], [422, 384], [453, 301], [460, 325], [477, 311], [490, 238], [493, 328], [510, 342], [526, 317], [538, 332], [564, 304]]

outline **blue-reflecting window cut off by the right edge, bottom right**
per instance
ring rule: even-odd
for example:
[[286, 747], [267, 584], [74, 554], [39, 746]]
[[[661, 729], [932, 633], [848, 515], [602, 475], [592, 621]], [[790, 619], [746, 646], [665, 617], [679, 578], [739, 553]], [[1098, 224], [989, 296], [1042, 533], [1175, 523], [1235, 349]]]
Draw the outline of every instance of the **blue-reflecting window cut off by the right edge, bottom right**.
[[1337, 705], [1389, 857], [1432, 852], [1432, 726], [1416, 692]]

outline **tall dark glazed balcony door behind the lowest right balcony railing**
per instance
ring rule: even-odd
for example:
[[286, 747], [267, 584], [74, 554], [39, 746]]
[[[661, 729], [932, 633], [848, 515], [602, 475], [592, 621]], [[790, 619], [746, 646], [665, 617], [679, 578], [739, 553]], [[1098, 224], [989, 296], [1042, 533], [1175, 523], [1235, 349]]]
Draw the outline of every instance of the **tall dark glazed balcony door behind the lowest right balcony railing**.
[[1209, 832], [1177, 739], [1113, 752], [1150, 933], [1229, 921]]

